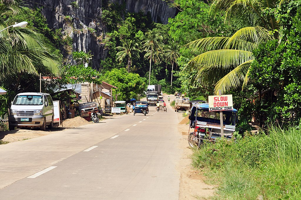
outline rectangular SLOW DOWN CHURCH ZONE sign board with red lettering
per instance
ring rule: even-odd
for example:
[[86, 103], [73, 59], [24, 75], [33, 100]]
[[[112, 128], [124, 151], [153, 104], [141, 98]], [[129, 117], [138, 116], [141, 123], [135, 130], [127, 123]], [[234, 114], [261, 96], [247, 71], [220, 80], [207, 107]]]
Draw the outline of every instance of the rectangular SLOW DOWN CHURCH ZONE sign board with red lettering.
[[231, 111], [233, 110], [232, 95], [208, 96], [209, 111]]

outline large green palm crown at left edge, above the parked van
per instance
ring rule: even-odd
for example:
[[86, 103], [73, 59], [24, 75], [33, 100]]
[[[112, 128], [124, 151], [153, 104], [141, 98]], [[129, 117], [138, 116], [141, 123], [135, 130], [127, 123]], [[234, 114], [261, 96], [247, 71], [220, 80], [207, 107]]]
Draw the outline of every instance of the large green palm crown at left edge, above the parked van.
[[[0, 16], [14, 16], [22, 12], [14, 0], [0, 1]], [[10, 18], [0, 21], [0, 30], [14, 24]], [[58, 75], [61, 59], [51, 42], [34, 27], [11, 28], [0, 33], [0, 80], [20, 73], [38, 74], [45, 71]]]

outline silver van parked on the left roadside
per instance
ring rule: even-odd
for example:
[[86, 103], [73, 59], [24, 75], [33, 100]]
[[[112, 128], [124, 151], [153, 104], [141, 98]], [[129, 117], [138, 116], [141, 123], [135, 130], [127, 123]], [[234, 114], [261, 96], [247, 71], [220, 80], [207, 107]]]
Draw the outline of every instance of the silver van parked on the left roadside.
[[11, 102], [9, 110], [8, 128], [40, 127], [46, 130], [53, 127], [53, 102], [50, 94], [26, 92], [17, 94]]

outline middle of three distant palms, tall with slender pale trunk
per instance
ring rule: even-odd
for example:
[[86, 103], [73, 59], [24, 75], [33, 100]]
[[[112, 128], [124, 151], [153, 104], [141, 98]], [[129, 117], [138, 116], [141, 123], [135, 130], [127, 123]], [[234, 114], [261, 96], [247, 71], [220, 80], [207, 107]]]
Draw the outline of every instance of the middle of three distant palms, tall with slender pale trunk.
[[153, 31], [147, 31], [144, 35], [144, 40], [142, 41], [142, 48], [143, 51], [146, 52], [144, 58], [150, 60], [150, 71], [148, 77], [148, 85], [151, 82], [151, 61], [153, 60], [154, 63], [160, 61], [160, 54], [163, 53], [163, 49], [161, 47], [161, 41], [163, 37], [154, 33]]

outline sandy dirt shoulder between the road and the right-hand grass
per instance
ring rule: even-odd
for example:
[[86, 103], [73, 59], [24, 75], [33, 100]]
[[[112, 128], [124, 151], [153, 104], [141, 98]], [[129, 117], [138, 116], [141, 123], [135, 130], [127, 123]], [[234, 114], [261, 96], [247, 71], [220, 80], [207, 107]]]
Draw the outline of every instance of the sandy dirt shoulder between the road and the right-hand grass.
[[178, 124], [178, 131], [182, 133], [179, 145], [183, 149], [181, 161], [177, 166], [181, 173], [179, 200], [208, 198], [214, 194], [214, 186], [204, 183], [205, 177], [191, 166], [193, 151], [189, 148], [187, 142], [189, 126], [186, 123], [189, 122], [188, 117], [182, 117], [182, 112], [179, 112], [178, 120], [180, 122]]

